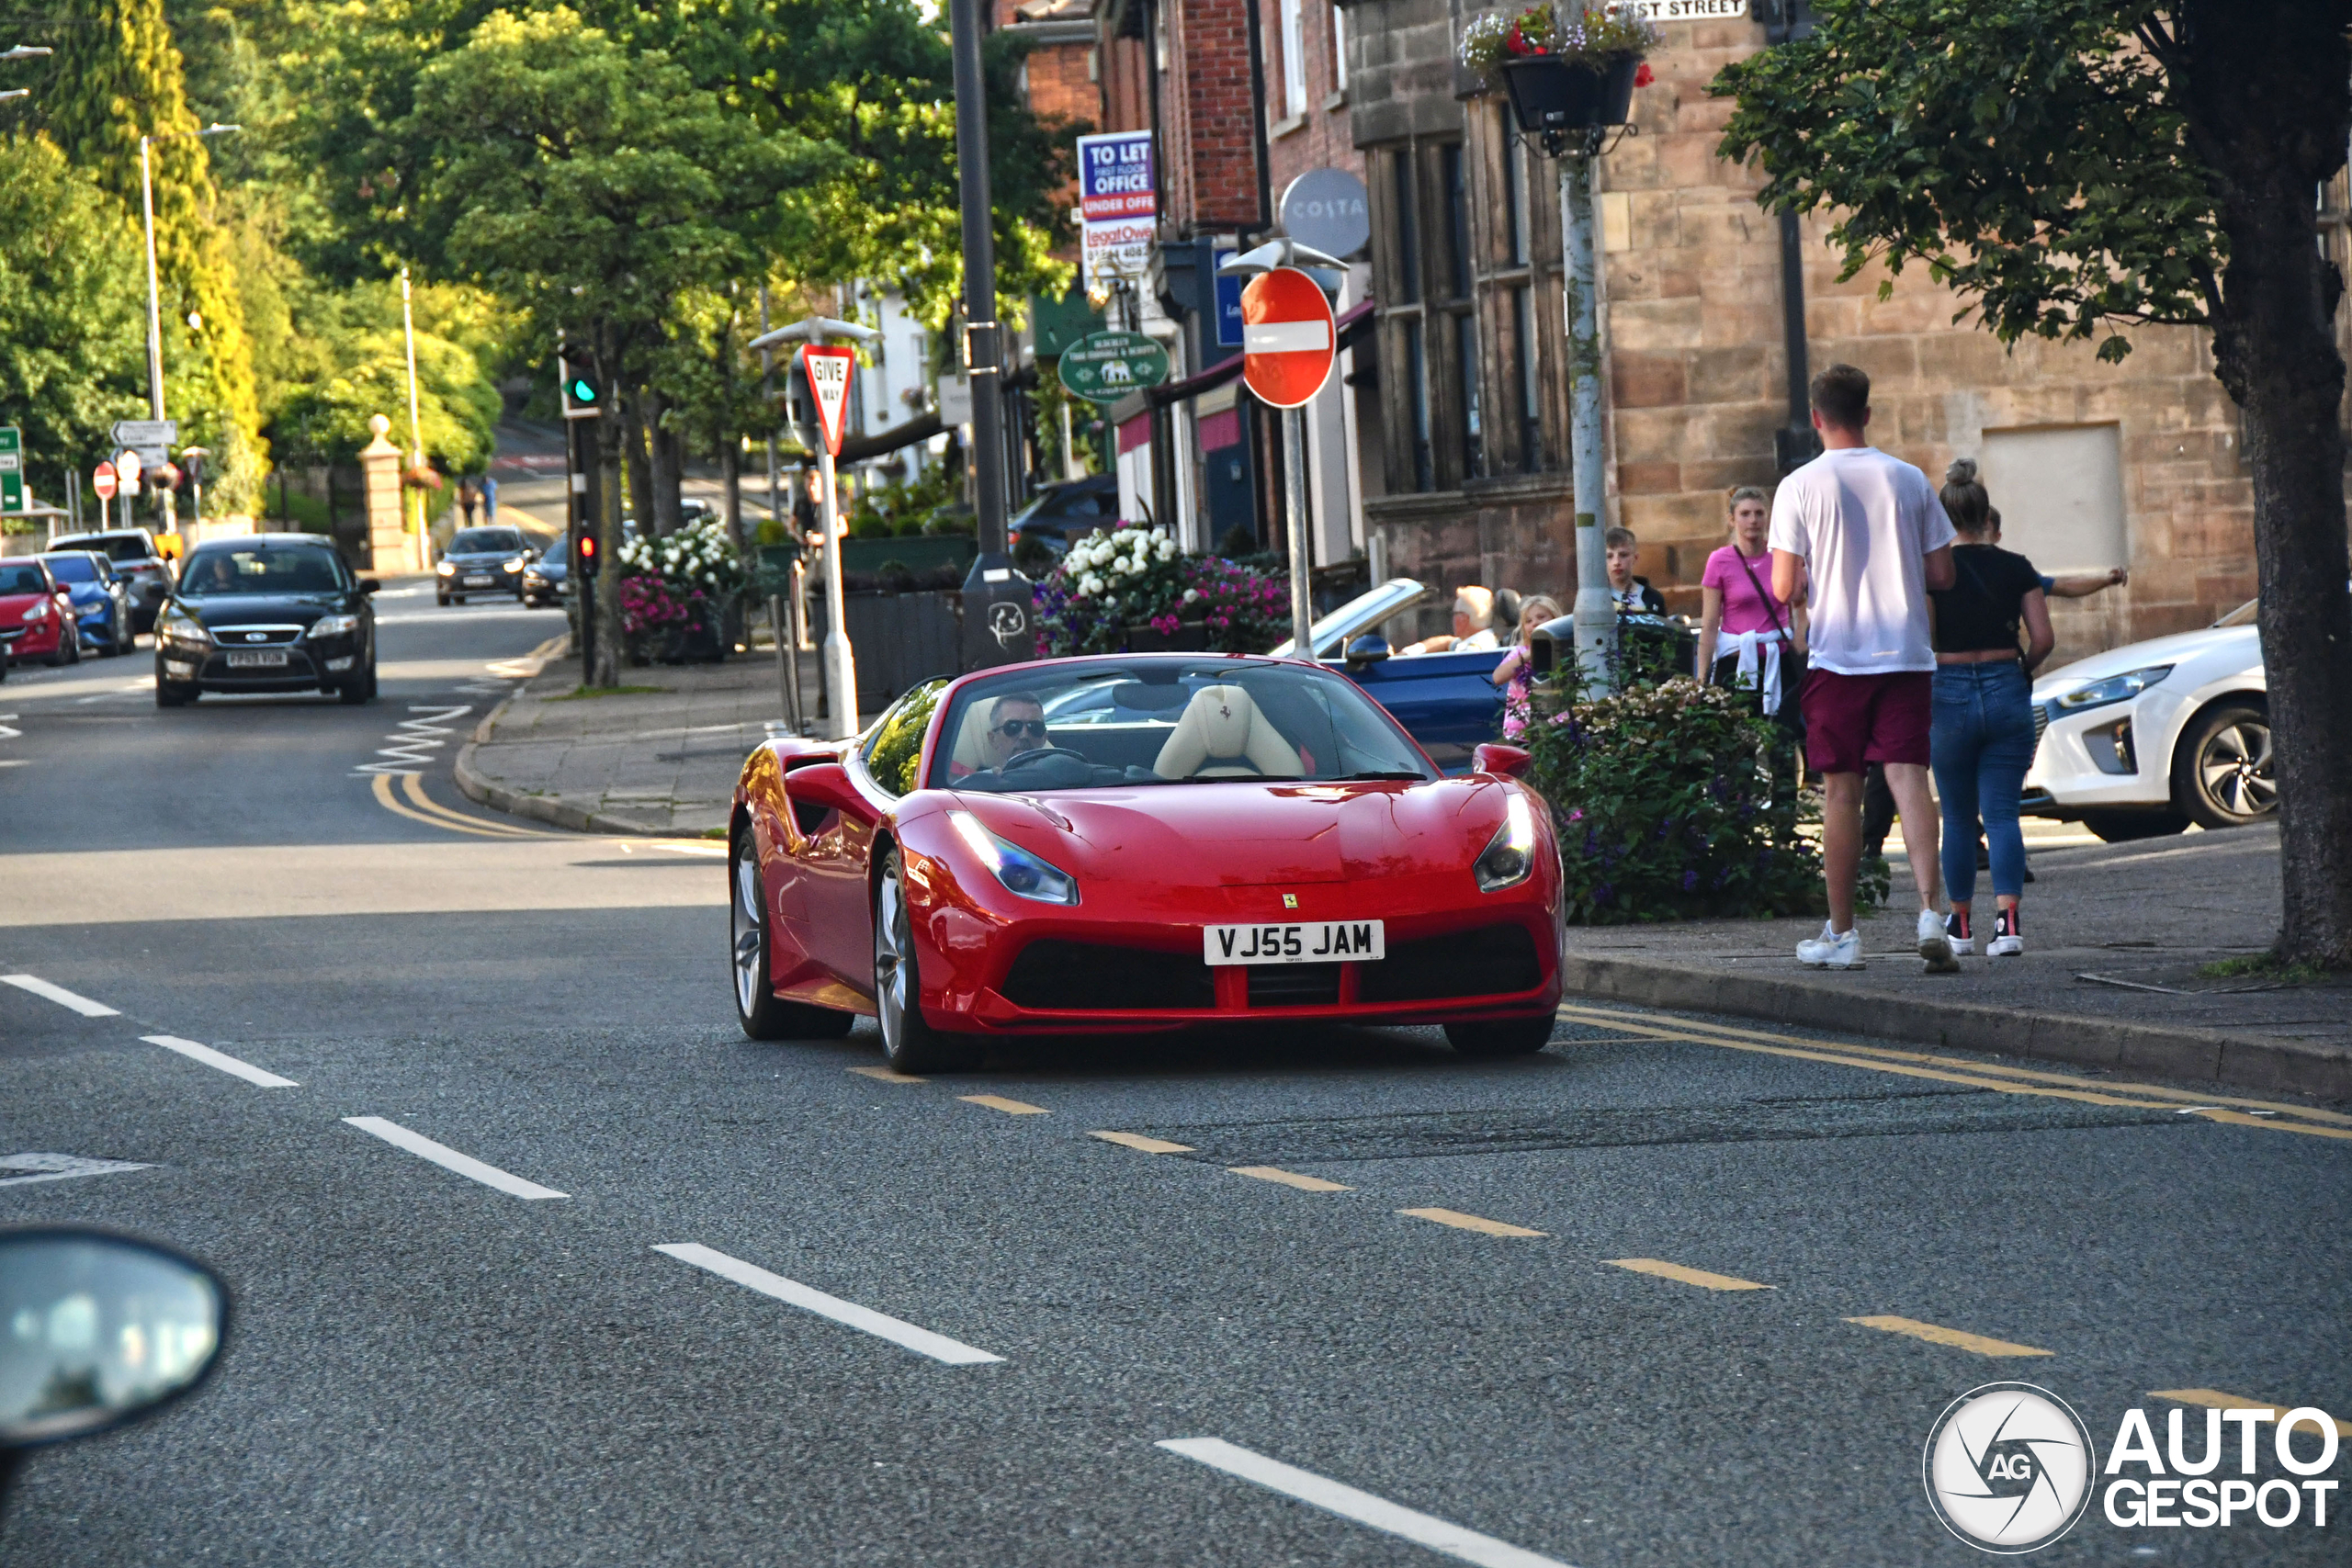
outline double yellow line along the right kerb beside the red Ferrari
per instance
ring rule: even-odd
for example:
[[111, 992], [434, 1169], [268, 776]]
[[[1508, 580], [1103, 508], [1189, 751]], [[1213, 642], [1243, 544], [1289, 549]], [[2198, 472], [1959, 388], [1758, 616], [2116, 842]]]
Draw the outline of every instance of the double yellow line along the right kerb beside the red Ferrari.
[[[2133, 1084], [2117, 1079], [2084, 1079], [2072, 1072], [2037, 1072], [2032, 1067], [2009, 1067], [2006, 1063], [1959, 1063], [1950, 1056], [1924, 1051], [1882, 1051], [1877, 1046], [1844, 1046], [1795, 1034], [1769, 1034], [1762, 1030], [1733, 1030], [1717, 1023], [1677, 1020], [1675, 1025], [1651, 1023], [1644, 1013], [1618, 1013], [1597, 1006], [1562, 1006], [1569, 1023], [1588, 1023], [1644, 1039], [1672, 1039], [1693, 1046], [1722, 1046], [1724, 1051], [1757, 1051], [1762, 1056], [1792, 1056], [1806, 1063], [1832, 1063], [1837, 1067], [1863, 1067], [1867, 1072], [1891, 1072], [1907, 1079], [1933, 1079], [1938, 1084], [1966, 1084], [1969, 1088], [1992, 1088], [2011, 1095], [2042, 1095], [2051, 1100], [2082, 1100], [2084, 1105], [2136, 1105], [2143, 1110], [2176, 1110], [2183, 1117], [2227, 1121], [2230, 1126], [2260, 1126], [2272, 1133], [2303, 1133], [2305, 1138], [2352, 1140], [2352, 1117], [2284, 1100], [2241, 1100], [2232, 1095], [2201, 1095], [2164, 1084]], [[1569, 1041], [1573, 1044], [1573, 1041]]]

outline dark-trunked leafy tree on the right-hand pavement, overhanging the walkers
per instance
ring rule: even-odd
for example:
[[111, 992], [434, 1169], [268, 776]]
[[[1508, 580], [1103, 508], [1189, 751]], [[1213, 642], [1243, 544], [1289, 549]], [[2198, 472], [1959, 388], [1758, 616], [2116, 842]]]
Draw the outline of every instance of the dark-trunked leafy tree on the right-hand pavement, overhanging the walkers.
[[2343, 277], [2317, 193], [2352, 134], [2347, 0], [1818, 0], [1726, 66], [1722, 153], [1835, 212], [1846, 275], [1924, 263], [2002, 341], [2213, 334], [2244, 411], [2277, 750], [2277, 954], [2352, 969]]

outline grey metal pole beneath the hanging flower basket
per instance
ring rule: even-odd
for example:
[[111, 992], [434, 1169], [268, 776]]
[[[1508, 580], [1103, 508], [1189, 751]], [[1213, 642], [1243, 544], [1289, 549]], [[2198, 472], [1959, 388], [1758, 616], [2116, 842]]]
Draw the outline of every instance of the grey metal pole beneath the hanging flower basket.
[[1609, 693], [1616, 665], [1616, 607], [1609, 602], [1609, 552], [1602, 548], [1602, 334], [1592, 270], [1592, 160], [1599, 127], [1566, 132], [1559, 158], [1559, 252], [1569, 317], [1569, 465], [1576, 482], [1576, 663], [1585, 691]]

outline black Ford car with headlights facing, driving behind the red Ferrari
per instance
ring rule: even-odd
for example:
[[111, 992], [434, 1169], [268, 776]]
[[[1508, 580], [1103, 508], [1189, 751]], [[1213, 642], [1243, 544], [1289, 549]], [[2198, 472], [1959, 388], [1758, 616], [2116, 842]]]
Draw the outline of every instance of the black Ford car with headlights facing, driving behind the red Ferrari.
[[198, 545], [155, 616], [155, 705], [205, 691], [376, 696], [374, 578], [325, 538], [256, 534]]

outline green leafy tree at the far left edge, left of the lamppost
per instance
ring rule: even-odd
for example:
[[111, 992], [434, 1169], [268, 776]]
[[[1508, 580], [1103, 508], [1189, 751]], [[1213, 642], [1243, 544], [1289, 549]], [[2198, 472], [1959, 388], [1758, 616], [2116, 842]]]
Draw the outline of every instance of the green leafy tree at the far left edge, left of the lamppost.
[[0, 423], [35, 473], [80, 484], [106, 430], [146, 411], [139, 233], [47, 136], [0, 141]]

